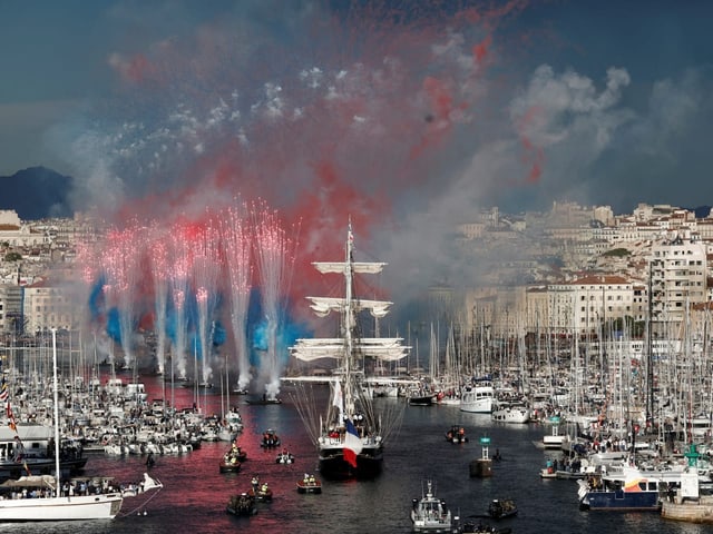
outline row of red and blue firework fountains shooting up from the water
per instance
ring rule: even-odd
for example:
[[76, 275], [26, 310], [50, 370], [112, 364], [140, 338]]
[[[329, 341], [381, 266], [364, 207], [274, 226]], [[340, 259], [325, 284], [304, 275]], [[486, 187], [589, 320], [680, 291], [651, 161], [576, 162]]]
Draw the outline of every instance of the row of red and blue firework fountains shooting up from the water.
[[[167, 370], [165, 355], [170, 339], [172, 376], [206, 384], [218, 362], [215, 347], [222, 343], [215, 330], [229, 324], [236, 357], [226, 357], [226, 365], [237, 368], [238, 386], [250, 386], [251, 348], [257, 346], [264, 350], [257, 350], [254, 364], [274, 395], [284, 366], [284, 357], [277, 354], [284, 352], [279, 336], [285, 320], [294, 246], [277, 212], [264, 202], [248, 209], [236, 200], [218, 212], [206, 211], [198, 220], [182, 217], [168, 230], [157, 221], [111, 228], [105, 240], [96, 244], [99, 253], [80, 248], [86, 263], [82, 276], [90, 287], [100, 284], [101, 313], [92, 320], [121, 346], [127, 366], [136, 360], [134, 340], [146, 335], [138, 332], [138, 325], [144, 325], [155, 333], [159, 373]], [[96, 255], [100, 260], [91, 261]], [[250, 332], [253, 271], [260, 274], [262, 320]]]

